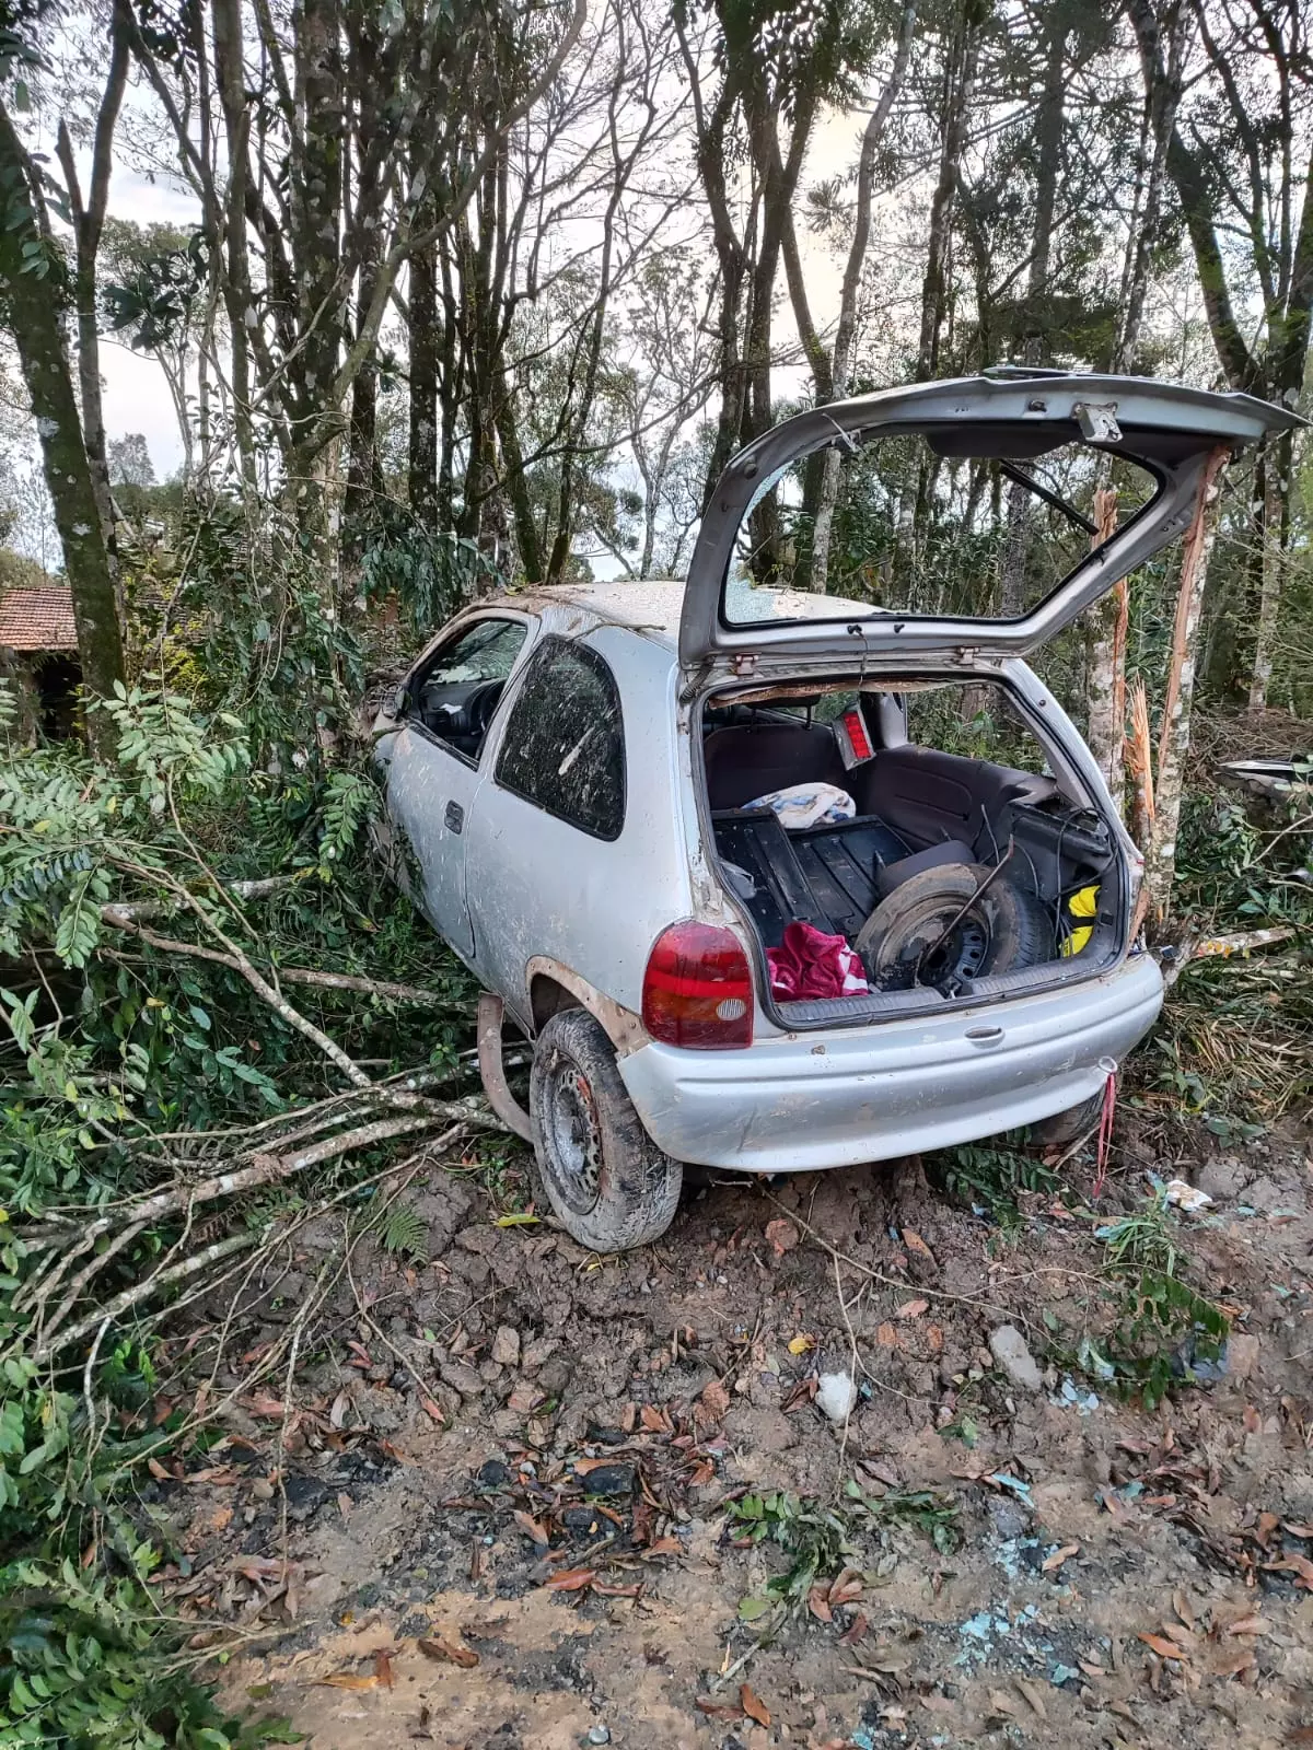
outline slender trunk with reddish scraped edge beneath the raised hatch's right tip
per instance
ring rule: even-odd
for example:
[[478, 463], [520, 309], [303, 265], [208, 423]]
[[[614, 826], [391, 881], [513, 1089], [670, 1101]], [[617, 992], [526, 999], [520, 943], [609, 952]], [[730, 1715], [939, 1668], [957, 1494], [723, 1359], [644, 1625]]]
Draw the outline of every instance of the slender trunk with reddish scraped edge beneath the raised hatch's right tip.
[[1171, 887], [1176, 878], [1176, 828], [1180, 826], [1185, 756], [1190, 751], [1190, 710], [1194, 705], [1194, 665], [1199, 634], [1199, 609], [1208, 581], [1208, 560], [1217, 537], [1218, 478], [1229, 450], [1213, 450], [1199, 481], [1194, 518], [1185, 534], [1180, 560], [1176, 618], [1171, 630], [1171, 660], [1162, 719], [1157, 737], [1157, 772], [1154, 775], [1154, 830], [1145, 856], [1145, 892], [1157, 929], [1171, 912]]

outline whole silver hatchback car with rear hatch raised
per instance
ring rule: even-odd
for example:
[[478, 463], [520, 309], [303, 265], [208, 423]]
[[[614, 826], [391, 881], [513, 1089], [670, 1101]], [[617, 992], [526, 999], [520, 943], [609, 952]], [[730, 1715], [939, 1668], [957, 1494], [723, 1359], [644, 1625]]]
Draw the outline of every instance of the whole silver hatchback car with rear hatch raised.
[[[1101, 1094], [1162, 996], [1140, 856], [1024, 658], [1183, 532], [1218, 444], [1287, 424], [1140, 378], [884, 390], [742, 450], [686, 583], [508, 593], [438, 634], [375, 724], [399, 866], [576, 1239], [655, 1239], [686, 1162], [844, 1167]], [[1115, 527], [1077, 508], [1108, 483]], [[977, 602], [935, 581], [940, 537], [977, 542]]]

